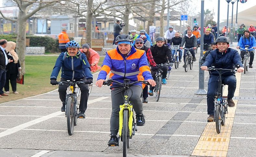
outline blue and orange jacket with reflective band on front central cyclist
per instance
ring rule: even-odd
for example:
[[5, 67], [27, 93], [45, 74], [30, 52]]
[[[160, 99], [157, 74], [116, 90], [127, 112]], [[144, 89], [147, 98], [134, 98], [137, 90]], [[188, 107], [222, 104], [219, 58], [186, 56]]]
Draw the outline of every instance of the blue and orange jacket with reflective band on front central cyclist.
[[[148, 67], [145, 51], [135, 49], [133, 46], [130, 54], [126, 57], [119, 51], [118, 47], [107, 51], [97, 80], [106, 80], [110, 71], [110, 78], [122, 83], [124, 79], [130, 79], [132, 82], [153, 79]], [[142, 86], [140, 83], [134, 85]], [[120, 85], [113, 83], [110, 88], [117, 86]]]

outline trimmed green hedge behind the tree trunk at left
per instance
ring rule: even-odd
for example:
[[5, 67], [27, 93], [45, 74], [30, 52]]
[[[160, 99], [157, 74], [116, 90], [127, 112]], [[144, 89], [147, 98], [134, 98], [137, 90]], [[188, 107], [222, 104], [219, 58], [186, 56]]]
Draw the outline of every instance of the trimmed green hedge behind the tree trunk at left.
[[[16, 42], [16, 35], [0, 35], [0, 39], [6, 39], [7, 41], [13, 41]], [[46, 52], [60, 52], [59, 50], [59, 41], [58, 39], [53, 39], [51, 37], [41, 37], [41, 36], [26, 36], [26, 38], [29, 38], [29, 46], [44, 46]], [[73, 40], [74, 38], [69, 38], [70, 40]]]

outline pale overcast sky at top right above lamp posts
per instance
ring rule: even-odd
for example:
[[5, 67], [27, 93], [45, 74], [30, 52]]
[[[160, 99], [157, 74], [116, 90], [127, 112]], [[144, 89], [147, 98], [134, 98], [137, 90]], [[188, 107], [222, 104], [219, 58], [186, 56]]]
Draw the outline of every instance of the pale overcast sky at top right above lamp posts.
[[[193, 0], [193, 1], [197, 3], [198, 12], [201, 12], [201, 0]], [[246, 3], [240, 3], [240, 1], [239, 1], [238, 2], [238, 12], [246, 10], [255, 5], [256, 5], [256, 0], [248, 0]], [[214, 12], [215, 12], [214, 20], [217, 21], [218, 0], [204, 0], [204, 10], [206, 10], [206, 9], [214, 10]], [[237, 11], [237, 2], [234, 3], [233, 14], [236, 14], [236, 11]], [[231, 14], [232, 14], [232, 4], [230, 2], [229, 3], [229, 16], [231, 16]], [[227, 1], [226, 0], [220, 0], [220, 20], [223, 20], [223, 19], [227, 19]]]

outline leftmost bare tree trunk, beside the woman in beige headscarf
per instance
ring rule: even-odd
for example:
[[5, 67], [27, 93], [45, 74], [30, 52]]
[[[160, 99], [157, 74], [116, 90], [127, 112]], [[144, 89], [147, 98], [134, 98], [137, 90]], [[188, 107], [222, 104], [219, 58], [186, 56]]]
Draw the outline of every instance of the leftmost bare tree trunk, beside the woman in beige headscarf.
[[25, 40], [26, 40], [26, 19], [22, 12], [19, 12], [18, 20], [17, 20], [17, 39], [16, 39], [16, 50], [19, 56], [19, 63], [21, 66], [22, 73], [25, 74]]

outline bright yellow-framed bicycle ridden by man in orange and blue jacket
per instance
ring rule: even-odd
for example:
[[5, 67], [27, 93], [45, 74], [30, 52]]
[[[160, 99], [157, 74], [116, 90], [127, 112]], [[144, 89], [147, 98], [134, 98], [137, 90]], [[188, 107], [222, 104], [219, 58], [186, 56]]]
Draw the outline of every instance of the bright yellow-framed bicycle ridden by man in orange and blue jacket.
[[120, 105], [119, 111], [119, 137], [117, 146], [119, 146], [119, 139], [121, 138], [121, 141], [123, 142], [123, 157], [126, 157], [127, 149], [129, 148], [129, 139], [132, 139], [133, 135], [135, 135], [135, 131], [137, 131], [137, 125], [135, 123], [133, 114], [133, 105], [129, 101], [128, 89], [130, 86], [136, 83], [142, 83], [146, 85], [149, 83], [145, 80], [130, 82], [129, 79], [124, 79], [124, 83], [121, 83], [112, 79], [108, 79], [103, 83], [103, 85], [111, 85], [113, 82], [124, 87], [124, 103], [123, 105]]

